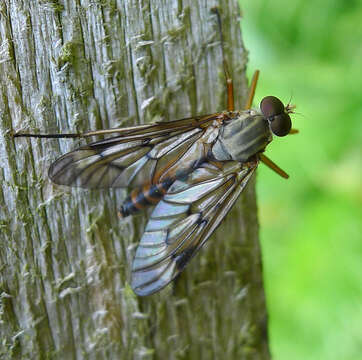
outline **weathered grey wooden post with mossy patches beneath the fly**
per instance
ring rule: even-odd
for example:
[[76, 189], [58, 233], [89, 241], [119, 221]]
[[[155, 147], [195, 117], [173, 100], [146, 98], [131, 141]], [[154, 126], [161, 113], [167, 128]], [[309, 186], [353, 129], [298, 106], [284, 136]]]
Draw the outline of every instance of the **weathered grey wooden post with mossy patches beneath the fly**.
[[[246, 94], [236, 0], [220, 1], [236, 105]], [[146, 216], [124, 190], [52, 184], [73, 140], [11, 138], [225, 109], [217, 1], [0, 2], [0, 357], [268, 359], [254, 181], [178, 281], [138, 298]]]

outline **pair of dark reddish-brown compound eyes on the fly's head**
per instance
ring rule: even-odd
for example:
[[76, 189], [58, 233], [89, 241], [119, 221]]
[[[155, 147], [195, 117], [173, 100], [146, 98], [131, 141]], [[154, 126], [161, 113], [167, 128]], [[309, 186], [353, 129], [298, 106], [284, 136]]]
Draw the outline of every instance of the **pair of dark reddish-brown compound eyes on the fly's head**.
[[275, 96], [266, 96], [260, 103], [260, 110], [270, 124], [274, 135], [285, 136], [292, 128], [290, 116], [283, 103]]

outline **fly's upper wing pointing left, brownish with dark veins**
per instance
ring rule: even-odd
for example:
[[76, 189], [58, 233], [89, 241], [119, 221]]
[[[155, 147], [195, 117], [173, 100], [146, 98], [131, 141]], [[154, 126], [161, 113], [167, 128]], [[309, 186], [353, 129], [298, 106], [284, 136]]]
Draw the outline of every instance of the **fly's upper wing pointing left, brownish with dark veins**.
[[[157, 182], [204, 155], [201, 139], [220, 114], [119, 129], [120, 135], [82, 146], [57, 159], [49, 177], [60, 185], [129, 187]], [[118, 130], [117, 130], [118, 131]]]

